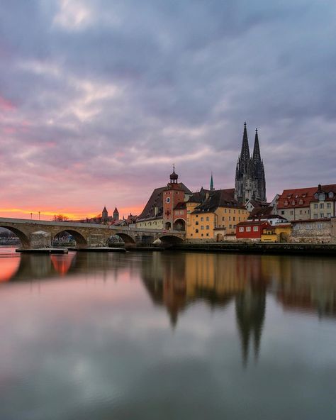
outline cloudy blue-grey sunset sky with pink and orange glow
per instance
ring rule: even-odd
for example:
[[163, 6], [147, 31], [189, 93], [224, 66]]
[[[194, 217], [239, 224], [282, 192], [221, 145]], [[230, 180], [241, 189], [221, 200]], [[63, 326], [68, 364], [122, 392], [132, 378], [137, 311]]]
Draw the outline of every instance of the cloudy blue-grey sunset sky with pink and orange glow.
[[335, 0], [1, 0], [0, 216], [233, 187], [244, 121], [269, 200], [335, 183], [335, 39]]

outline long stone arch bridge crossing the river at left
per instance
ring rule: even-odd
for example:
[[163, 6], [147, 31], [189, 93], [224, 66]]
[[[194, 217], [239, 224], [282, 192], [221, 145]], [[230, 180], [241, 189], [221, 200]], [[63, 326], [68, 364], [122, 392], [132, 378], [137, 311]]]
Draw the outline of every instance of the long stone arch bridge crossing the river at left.
[[108, 238], [119, 236], [126, 244], [150, 244], [159, 239], [163, 245], [184, 241], [185, 233], [181, 231], [160, 231], [158, 229], [140, 229], [128, 227], [106, 226], [91, 223], [72, 223], [56, 221], [38, 221], [27, 219], [0, 218], [0, 227], [7, 228], [21, 241], [24, 248], [30, 248], [36, 234], [45, 235], [47, 245], [51, 246], [55, 236], [62, 232], [72, 235], [77, 247], [103, 246]]

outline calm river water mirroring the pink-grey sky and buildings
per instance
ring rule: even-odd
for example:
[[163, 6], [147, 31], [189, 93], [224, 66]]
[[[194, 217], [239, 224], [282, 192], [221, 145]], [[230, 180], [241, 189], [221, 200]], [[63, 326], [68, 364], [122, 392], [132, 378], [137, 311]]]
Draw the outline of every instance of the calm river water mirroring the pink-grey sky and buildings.
[[0, 250], [0, 419], [336, 419], [336, 259]]

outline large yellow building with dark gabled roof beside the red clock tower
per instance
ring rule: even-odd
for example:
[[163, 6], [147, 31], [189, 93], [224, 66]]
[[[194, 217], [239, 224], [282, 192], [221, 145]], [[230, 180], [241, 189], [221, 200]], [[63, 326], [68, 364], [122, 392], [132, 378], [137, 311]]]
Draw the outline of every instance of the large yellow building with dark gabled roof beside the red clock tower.
[[186, 239], [223, 241], [235, 233], [249, 212], [233, 197], [233, 189], [205, 190], [193, 194], [186, 203]]

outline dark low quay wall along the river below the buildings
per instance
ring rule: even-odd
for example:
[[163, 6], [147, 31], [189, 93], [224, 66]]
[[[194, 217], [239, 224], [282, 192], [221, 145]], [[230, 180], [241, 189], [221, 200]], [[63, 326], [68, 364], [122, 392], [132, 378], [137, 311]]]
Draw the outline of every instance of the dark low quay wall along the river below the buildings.
[[182, 243], [169, 249], [224, 253], [336, 255], [336, 243]]

